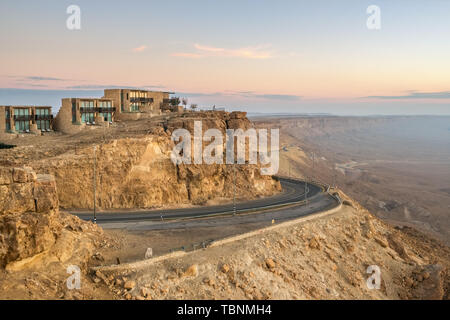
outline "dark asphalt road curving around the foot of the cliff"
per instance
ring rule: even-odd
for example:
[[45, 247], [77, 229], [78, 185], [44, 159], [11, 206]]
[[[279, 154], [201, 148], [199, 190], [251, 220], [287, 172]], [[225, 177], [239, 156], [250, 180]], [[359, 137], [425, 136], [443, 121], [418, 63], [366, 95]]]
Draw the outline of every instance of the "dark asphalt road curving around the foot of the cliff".
[[[97, 223], [103, 228], [133, 230], [177, 229], [241, 223], [284, 221], [330, 209], [337, 201], [317, 185], [308, 183], [306, 204], [303, 181], [279, 178], [283, 192], [257, 200], [238, 202], [236, 216], [233, 204], [171, 210], [123, 211], [97, 213]], [[289, 207], [281, 207], [289, 205]], [[269, 207], [269, 208], [268, 208]], [[71, 212], [83, 220], [93, 219], [92, 212]]]

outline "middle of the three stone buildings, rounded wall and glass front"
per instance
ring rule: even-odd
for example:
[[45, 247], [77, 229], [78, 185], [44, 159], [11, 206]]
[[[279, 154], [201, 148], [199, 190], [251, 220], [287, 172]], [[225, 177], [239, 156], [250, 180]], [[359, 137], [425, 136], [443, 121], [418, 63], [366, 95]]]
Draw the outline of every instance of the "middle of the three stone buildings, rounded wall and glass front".
[[55, 130], [75, 133], [86, 126], [107, 126], [114, 122], [114, 101], [106, 98], [65, 98], [55, 117]]

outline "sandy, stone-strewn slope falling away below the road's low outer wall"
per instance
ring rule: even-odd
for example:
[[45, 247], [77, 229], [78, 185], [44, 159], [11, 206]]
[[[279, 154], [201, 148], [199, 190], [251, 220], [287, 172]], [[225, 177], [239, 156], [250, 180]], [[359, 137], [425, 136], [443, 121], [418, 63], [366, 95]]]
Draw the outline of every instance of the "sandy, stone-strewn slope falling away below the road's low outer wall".
[[[364, 210], [96, 277], [119, 299], [448, 299], [450, 250]], [[370, 289], [367, 268], [381, 270]], [[106, 280], [105, 280], [106, 279]]]

